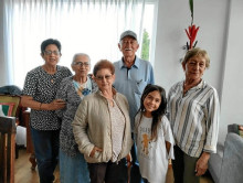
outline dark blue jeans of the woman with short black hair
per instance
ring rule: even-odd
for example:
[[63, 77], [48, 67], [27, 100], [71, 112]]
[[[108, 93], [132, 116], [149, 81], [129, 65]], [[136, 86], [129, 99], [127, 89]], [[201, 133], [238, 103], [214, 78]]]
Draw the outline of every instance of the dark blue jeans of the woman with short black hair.
[[40, 183], [52, 183], [59, 162], [60, 130], [36, 130], [31, 128]]

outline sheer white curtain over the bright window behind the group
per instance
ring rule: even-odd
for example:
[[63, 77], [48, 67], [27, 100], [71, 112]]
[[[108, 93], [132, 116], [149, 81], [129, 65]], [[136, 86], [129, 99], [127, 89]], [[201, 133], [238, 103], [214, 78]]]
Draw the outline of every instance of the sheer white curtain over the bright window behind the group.
[[[101, 58], [115, 62], [125, 30], [150, 32], [152, 46], [156, 0], [3, 0], [4, 49], [9, 83], [23, 86], [29, 71], [42, 65], [40, 45], [49, 37], [62, 43], [60, 65], [70, 67], [75, 53], [87, 53], [94, 65]], [[150, 54], [152, 55], [152, 53]], [[151, 57], [151, 56], [150, 56]]]

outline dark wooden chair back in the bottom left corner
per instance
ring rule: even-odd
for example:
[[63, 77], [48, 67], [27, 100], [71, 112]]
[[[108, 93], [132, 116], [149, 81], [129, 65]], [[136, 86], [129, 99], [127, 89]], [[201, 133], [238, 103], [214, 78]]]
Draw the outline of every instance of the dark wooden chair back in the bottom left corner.
[[0, 117], [0, 182], [14, 183], [15, 118]]

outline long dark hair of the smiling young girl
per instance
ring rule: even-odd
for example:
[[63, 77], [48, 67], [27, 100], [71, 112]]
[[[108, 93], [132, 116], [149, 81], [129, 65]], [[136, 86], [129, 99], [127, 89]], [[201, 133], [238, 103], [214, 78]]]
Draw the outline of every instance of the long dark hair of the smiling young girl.
[[[167, 109], [166, 90], [161, 86], [148, 84], [145, 87], [145, 90], [141, 95], [140, 108], [138, 110], [138, 112], [139, 111], [142, 112], [146, 110], [145, 106], [144, 106], [144, 100], [149, 93], [152, 93], [155, 90], [159, 92], [159, 94], [161, 96], [161, 104], [159, 105], [159, 108], [157, 110], [151, 112], [151, 115], [152, 115], [151, 140], [154, 140], [154, 139], [157, 140], [159, 122], [161, 121], [162, 116], [166, 115], [166, 109]], [[140, 116], [140, 120], [141, 120], [141, 117], [142, 117], [142, 115]]]

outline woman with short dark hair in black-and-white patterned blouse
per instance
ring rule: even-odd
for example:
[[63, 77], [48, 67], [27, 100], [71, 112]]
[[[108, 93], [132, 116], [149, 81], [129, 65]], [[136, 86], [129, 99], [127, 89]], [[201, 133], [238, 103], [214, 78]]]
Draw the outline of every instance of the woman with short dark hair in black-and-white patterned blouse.
[[49, 39], [41, 44], [42, 66], [27, 74], [21, 103], [31, 108], [30, 126], [41, 183], [52, 183], [59, 160], [59, 133], [61, 121], [55, 110], [65, 107], [65, 101], [55, 99], [63, 78], [71, 76], [67, 67], [57, 65], [61, 43]]

